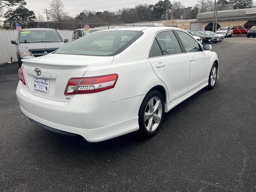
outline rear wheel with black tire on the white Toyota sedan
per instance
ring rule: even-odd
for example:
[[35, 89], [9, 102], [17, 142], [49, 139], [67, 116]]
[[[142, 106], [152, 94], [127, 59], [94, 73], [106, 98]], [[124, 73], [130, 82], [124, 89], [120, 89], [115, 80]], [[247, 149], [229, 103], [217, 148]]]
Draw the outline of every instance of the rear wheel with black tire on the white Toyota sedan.
[[146, 94], [139, 110], [139, 132], [144, 138], [154, 136], [164, 118], [164, 97], [158, 90]]

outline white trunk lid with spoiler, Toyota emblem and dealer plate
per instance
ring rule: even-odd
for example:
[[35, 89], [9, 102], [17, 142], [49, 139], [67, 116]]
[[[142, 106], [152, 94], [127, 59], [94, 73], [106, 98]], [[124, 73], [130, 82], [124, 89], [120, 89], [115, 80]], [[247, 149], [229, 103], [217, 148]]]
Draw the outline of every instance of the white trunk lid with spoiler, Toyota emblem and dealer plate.
[[41, 98], [69, 102], [74, 95], [64, 95], [68, 80], [83, 77], [91, 68], [109, 65], [113, 58], [114, 56], [48, 54], [23, 59], [26, 90]]

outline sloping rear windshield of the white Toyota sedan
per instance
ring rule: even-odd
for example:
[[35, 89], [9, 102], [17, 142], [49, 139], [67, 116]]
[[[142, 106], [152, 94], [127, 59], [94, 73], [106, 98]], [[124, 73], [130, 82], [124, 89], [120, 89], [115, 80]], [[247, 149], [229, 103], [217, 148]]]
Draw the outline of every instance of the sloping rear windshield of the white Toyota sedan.
[[90, 33], [59, 48], [54, 54], [113, 56], [142, 36], [141, 31], [118, 30]]

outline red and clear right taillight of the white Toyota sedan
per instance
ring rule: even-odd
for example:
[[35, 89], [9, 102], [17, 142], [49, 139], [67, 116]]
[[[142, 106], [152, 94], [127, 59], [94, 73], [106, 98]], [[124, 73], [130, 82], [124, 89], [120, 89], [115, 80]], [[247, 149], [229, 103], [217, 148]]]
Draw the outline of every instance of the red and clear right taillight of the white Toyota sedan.
[[95, 93], [114, 88], [118, 74], [96, 77], [71, 78], [68, 80], [64, 95]]

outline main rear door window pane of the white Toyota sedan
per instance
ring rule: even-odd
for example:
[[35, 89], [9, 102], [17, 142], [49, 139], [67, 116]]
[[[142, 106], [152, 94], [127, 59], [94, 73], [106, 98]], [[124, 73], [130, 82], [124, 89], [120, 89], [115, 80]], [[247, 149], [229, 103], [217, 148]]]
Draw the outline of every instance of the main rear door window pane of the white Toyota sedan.
[[160, 48], [164, 55], [181, 53], [181, 48], [173, 31], [164, 31], [156, 35]]

